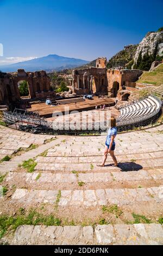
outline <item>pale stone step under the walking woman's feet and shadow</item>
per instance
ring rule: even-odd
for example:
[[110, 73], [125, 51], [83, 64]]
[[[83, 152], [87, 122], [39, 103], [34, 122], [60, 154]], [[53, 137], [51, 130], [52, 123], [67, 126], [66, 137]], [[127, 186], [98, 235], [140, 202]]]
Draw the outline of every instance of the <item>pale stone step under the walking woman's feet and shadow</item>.
[[[118, 159], [117, 159], [118, 160]], [[98, 161], [96, 162], [98, 163]], [[99, 171], [101, 169], [109, 171], [114, 169], [123, 171], [140, 170], [145, 168], [161, 168], [163, 158], [142, 159], [136, 162], [125, 161], [118, 162], [118, 167], [112, 166], [112, 162], [106, 162], [105, 167], [97, 166], [96, 163], [37, 163], [35, 170], [42, 171]]]

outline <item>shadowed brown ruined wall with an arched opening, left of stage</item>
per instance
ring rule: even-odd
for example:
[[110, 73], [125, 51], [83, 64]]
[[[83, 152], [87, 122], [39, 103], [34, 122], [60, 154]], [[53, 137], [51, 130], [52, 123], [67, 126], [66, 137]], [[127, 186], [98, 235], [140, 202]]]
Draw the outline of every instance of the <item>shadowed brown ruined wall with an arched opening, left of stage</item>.
[[18, 69], [14, 73], [2, 73], [0, 78], [0, 103], [8, 104], [20, 99], [18, 82], [22, 80], [28, 82], [30, 98], [46, 97], [53, 93], [50, 91], [50, 79], [45, 71], [25, 72], [24, 69]]

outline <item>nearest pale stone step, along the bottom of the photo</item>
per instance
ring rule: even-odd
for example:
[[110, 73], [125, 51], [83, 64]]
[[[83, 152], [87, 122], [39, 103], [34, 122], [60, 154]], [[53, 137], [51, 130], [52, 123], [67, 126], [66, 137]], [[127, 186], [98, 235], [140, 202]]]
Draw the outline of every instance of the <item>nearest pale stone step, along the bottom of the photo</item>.
[[[161, 224], [21, 225], [11, 245], [163, 245]], [[54, 248], [55, 250], [55, 248]]]

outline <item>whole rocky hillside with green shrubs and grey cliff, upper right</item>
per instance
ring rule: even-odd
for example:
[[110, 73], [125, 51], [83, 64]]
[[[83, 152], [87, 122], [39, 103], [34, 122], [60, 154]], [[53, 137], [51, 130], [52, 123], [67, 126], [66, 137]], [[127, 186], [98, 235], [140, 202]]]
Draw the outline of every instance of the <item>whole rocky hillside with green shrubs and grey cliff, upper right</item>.
[[[148, 32], [137, 45], [124, 46], [124, 49], [109, 59], [108, 68], [141, 69], [149, 70], [154, 61], [162, 61], [159, 55], [160, 49], [163, 53], [163, 27], [157, 32]], [[161, 54], [162, 55], [162, 54]]]

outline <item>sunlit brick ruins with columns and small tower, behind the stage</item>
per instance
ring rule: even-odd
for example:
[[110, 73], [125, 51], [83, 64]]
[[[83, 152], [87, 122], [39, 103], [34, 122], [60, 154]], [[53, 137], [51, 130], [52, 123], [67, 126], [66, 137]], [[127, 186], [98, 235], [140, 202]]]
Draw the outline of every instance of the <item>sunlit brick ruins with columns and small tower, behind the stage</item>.
[[82, 93], [106, 93], [117, 97], [118, 90], [134, 88], [142, 70], [106, 69], [106, 58], [98, 58], [96, 68], [73, 70], [73, 91]]

